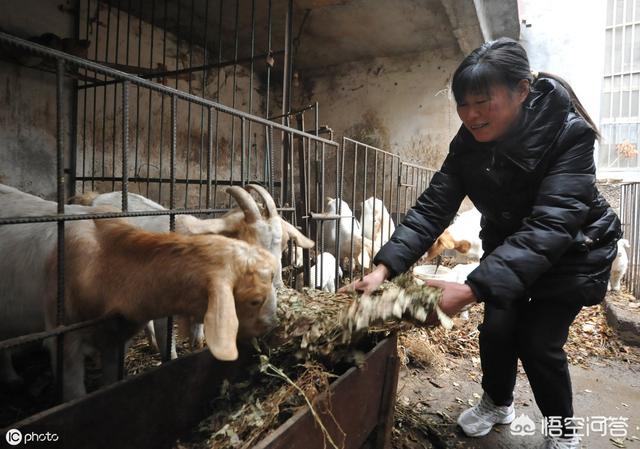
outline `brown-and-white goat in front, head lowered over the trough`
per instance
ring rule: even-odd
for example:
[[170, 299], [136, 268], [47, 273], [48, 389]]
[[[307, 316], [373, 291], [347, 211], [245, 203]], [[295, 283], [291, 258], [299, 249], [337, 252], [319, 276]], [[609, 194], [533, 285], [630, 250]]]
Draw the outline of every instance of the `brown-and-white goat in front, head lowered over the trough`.
[[[103, 210], [65, 206], [67, 214]], [[0, 217], [56, 213], [56, 203], [0, 184]], [[0, 226], [0, 340], [56, 326], [56, 234], [55, 222]], [[85, 394], [88, 350], [101, 353], [103, 380], [115, 381], [119, 348], [151, 319], [175, 314], [204, 322], [209, 350], [220, 360], [237, 358], [236, 338], [274, 324], [277, 261], [246, 242], [150, 233], [121, 219], [78, 220], [65, 224], [64, 255], [64, 323], [114, 317], [65, 334], [65, 399]]]

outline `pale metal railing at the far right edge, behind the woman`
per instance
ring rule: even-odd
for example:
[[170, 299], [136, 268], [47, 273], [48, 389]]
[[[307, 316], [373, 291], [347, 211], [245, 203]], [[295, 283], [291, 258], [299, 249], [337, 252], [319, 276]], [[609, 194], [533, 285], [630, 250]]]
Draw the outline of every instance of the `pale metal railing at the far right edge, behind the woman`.
[[623, 282], [640, 300], [640, 183], [622, 185], [620, 219], [624, 238], [629, 240], [631, 246], [627, 250], [629, 268]]

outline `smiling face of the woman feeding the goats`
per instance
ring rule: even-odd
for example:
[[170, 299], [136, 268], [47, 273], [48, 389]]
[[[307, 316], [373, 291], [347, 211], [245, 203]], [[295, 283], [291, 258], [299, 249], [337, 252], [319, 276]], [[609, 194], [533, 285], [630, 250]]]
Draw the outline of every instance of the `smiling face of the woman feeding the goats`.
[[515, 122], [529, 93], [522, 80], [515, 90], [493, 86], [488, 94], [467, 94], [458, 105], [458, 116], [478, 142], [500, 140]]

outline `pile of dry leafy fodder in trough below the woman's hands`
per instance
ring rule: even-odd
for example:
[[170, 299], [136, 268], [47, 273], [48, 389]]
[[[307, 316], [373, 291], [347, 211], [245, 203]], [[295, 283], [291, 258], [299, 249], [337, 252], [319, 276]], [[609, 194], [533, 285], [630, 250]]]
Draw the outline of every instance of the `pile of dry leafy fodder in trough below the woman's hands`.
[[[176, 449], [249, 448], [300, 407], [314, 402], [333, 378], [354, 364], [391, 331], [424, 323], [437, 308], [439, 289], [404, 277], [385, 283], [373, 297], [312, 289], [278, 292], [280, 325], [256, 342], [248, 379], [225, 383], [203, 420]], [[437, 312], [436, 312], [437, 313]], [[322, 423], [318, 420], [322, 428]], [[337, 445], [327, 437], [327, 447]]]

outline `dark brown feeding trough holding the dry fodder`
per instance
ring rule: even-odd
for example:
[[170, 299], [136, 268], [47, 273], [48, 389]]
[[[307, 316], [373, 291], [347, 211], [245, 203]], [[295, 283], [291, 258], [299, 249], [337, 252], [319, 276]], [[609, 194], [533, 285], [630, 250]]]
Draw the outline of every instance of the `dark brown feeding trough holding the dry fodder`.
[[[314, 403], [339, 447], [389, 446], [399, 361], [396, 335], [371, 348], [359, 367], [349, 368]], [[47, 447], [168, 448], [211, 413], [209, 404], [225, 378], [248, 363], [215, 360], [202, 350], [118, 382], [86, 397], [11, 426], [23, 435], [55, 434]], [[2, 431], [5, 434], [9, 429]], [[325, 436], [308, 407], [301, 408], [255, 448], [324, 448]]]

